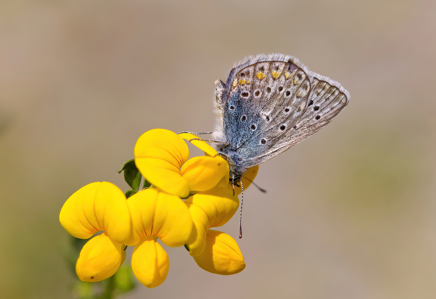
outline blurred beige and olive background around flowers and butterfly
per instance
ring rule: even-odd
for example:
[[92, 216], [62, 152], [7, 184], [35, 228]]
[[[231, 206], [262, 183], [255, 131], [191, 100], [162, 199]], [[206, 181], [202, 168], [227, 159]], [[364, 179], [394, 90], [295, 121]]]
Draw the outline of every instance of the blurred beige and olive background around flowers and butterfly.
[[[246, 269], [214, 275], [165, 247], [167, 280], [124, 298], [435, 298], [435, 16], [433, 0], [1, 1], [1, 297], [70, 298], [69, 195], [126, 191], [116, 171], [140, 134], [211, 130], [214, 81], [281, 52], [351, 101], [261, 165]], [[219, 230], [237, 239], [238, 219]]]

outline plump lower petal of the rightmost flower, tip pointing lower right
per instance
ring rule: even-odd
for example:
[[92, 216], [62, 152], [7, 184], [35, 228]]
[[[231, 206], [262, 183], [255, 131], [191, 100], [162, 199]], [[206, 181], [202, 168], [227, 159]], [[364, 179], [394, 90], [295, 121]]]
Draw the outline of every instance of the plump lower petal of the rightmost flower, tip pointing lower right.
[[220, 275], [232, 275], [245, 268], [244, 257], [231, 236], [214, 230], [206, 235], [206, 248], [201, 255], [194, 256], [201, 269]]

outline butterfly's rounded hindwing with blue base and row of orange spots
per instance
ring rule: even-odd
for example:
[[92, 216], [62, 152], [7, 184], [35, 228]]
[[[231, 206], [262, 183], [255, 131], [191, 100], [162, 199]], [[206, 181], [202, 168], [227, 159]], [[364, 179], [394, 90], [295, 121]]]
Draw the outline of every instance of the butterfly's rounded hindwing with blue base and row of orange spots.
[[[261, 61], [235, 73], [224, 109], [227, 141], [241, 155], [257, 156], [301, 117], [310, 80], [290, 61]], [[246, 147], [252, 143], [262, 147]]]

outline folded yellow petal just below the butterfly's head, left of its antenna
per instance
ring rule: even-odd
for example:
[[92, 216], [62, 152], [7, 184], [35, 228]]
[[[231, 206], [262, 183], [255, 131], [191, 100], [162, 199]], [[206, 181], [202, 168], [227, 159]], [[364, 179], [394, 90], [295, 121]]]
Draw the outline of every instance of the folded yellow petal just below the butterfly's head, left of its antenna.
[[238, 196], [228, 188], [216, 187], [208, 191], [198, 192], [185, 200], [187, 204], [200, 207], [208, 215], [207, 228], [221, 226], [235, 215], [239, 207]]

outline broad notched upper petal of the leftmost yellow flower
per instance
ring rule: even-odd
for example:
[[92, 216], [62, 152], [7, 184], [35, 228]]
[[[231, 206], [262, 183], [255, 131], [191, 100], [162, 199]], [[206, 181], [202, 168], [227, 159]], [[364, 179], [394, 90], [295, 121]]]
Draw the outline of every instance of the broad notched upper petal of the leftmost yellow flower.
[[76, 238], [87, 239], [104, 230], [119, 243], [130, 235], [126, 196], [116, 185], [103, 181], [80, 188], [67, 199], [59, 221]]

